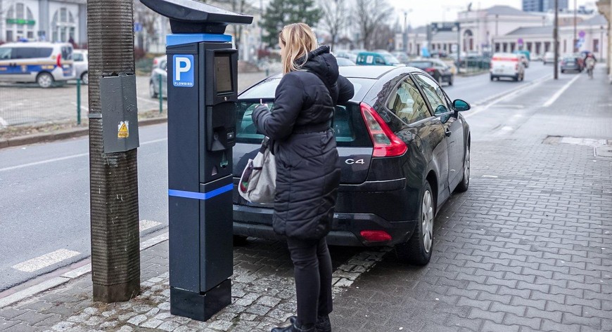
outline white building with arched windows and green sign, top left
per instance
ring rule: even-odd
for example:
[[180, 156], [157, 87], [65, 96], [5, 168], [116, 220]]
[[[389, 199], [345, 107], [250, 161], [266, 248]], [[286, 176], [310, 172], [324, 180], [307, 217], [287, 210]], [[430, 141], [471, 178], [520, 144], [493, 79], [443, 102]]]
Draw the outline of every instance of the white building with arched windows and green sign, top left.
[[0, 42], [19, 39], [87, 44], [87, 1], [0, 0]]

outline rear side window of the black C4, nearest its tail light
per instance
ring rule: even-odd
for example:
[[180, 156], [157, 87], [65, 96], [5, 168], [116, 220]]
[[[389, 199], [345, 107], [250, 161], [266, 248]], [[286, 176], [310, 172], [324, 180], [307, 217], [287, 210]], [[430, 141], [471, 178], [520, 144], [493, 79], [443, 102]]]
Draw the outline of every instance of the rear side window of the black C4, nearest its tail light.
[[407, 124], [431, 117], [419, 89], [409, 77], [391, 95], [387, 108]]

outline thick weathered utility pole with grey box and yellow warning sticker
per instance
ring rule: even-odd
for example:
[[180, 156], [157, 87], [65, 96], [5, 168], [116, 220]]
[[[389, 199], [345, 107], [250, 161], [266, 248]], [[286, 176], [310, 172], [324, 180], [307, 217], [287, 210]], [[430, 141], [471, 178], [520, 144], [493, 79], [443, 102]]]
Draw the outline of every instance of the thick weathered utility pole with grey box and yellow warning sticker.
[[89, 196], [94, 301], [140, 293], [138, 109], [132, 0], [88, 0]]

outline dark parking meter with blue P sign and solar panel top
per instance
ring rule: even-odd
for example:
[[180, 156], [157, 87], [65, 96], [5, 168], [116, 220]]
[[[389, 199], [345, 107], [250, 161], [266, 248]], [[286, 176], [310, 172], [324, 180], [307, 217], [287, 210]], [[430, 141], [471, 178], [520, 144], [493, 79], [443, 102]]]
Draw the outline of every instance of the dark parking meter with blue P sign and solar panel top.
[[170, 312], [200, 321], [231, 303], [232, 147], [238, 52], [228, 24], [253, 17], [193, 0], [141, 0], [167, 36]]

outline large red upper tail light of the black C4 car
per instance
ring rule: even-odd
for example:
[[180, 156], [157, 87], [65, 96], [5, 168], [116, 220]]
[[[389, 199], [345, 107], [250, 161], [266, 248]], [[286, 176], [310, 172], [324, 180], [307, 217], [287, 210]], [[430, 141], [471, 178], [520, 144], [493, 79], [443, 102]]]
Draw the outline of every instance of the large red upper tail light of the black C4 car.
[[397, 138], [374, 108], [362, 102], [361, 110], [366, 128], [374, 143], [372, 157], [397, 157], [408, 150], [406, 143]]

